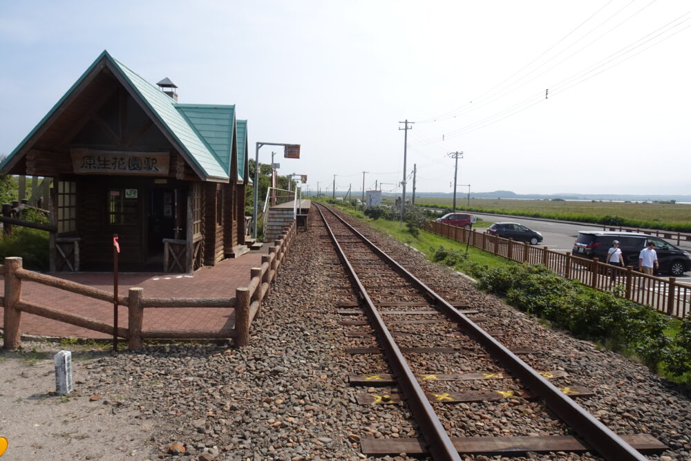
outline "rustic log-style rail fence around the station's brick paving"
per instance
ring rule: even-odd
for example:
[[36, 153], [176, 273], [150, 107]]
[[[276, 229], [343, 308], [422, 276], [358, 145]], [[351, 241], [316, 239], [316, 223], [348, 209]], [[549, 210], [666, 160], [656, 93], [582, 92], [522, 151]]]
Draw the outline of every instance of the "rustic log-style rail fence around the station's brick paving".
[[[269, 254], [262, 256], [261, 267], [251, 269], [249, 285], [246, 288], [237, 288], [235, 297], [144, 298], [143, 288], [130, 288], [128, 296], [117, 297], [117, 304], [128, 308], [128, 326], [117, 328], [117, 336], [127, 339], [128, 346], [132, 350], [141, 349], [144, 339], [234, 338], [236, 346], [247, 346], [252, 321], [261, 313], [262, 301], [267, 297], [269, 286], [276, 278], [276, 271], [290, 249], [295, 234], [296, 223], [293, 220], [281, 238], [276, 241], [276, 245], [269, 248]], [[3, 347], [5, 349], [15, 350], [21, 346], [21, 312], [113, 335], [113, 326], [103, 321], [24, 301], [21, 299], [21, 284], [22, 281], [32, 281], [108, 303], [113, 303], [113, 293], [23, 269], [21, 258], [5, 258], [4, 265], [0, 265], [0, 274], [4, 274], [5, 278], [4, 297], [0, 297], [4, 306]], [[146, 308], [235, 308], [235, 326], [232, 330], [218, 332], [176, 329], [143, 330]]]

